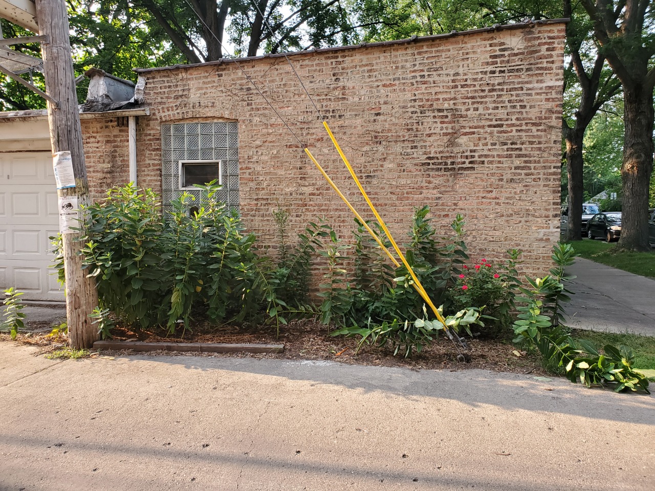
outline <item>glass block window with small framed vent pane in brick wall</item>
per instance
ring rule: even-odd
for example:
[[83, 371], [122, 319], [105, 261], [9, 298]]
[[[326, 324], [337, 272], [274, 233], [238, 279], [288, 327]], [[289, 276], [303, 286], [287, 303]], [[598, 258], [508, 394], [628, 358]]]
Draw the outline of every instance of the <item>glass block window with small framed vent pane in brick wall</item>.
[[[219, 199], [239, 206], [238, 126], [233, 121], [162, 124], [162, 205], [183, 191], [200, 202], [194, 184], [218, 179]], [[211, 177], [211, 179], [210, 179]], [[201, 182], [202, 181], [202, 182]]]

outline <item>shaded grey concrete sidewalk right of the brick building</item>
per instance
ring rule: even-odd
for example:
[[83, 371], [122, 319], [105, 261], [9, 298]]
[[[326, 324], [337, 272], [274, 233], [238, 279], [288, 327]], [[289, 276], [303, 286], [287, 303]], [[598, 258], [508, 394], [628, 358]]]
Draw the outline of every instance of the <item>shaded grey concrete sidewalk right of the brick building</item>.
[[567, 325], [594, 331], [655, 336], [655, 280], [578, 257], [565, 306]]

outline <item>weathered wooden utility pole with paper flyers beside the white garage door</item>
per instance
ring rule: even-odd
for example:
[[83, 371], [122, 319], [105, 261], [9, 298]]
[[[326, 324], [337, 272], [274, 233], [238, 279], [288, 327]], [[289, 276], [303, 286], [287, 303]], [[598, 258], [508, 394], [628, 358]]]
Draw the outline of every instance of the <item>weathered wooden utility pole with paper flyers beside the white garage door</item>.
[[[52, 153], [69, 151], [75, 174], [75, 187], [58, 189], [57, 194], [60, 198], [77, 196], [79, 206], [87, 206], [90, 199], [66, 5], [64, 0], [36, 0], [36, 9], [40, 34], [47, 37], [41, 43], [45, 88], [58, 101], [57, 107], [48, 101]], [[66, 318], [71, 346], [75, 349], [90, 348], [98, 340], [98, 329], [88, 317], [98, 306], [98, 293], [94, 280], [87, 278], [86, 270], [82, 269], [79, 237], [79, 233], [63, 234]]]

